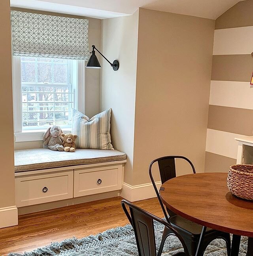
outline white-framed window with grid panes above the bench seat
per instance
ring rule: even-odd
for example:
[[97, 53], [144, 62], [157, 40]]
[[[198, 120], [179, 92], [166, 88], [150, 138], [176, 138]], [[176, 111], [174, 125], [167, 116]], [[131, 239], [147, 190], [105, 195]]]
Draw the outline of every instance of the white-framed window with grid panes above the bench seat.
[[23, 141], [17, 139], [22, 133], [26, 133], [26, 137], [27, 132], [43, 134], [52, 125], [70, 131], [72, 108], [79, 108], [77, 92], [81, 91], [82, 95], [83, 91], [83, 79], [79, 79], [82, 73], [79, 69], [84, 70], [83, 61], [44, 57], [13, 58], [16, 141]]

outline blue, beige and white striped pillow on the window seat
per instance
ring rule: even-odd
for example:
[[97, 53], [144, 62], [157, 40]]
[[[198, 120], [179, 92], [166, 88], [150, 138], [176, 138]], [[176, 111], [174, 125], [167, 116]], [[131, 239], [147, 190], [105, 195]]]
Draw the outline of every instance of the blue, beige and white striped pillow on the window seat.
[[78, 149], [113, 149], [110, 135], [111, 109], [89, 119], [83, 113], [72, 110], [72, 133], [77, 135]]

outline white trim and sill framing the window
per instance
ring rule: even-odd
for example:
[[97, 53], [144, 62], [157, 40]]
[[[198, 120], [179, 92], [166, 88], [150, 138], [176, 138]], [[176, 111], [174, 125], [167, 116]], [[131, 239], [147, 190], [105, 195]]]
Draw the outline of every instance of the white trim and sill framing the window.
[[[77, 110], [85, 113], [85, 62], [77, 61]], [[15, 142], [40, 141], [45, 130], [22, 131], [22, 106], [21, 106], [21, 61], [20, 57], [12, 58], [12, 90], [13, 90], [13, 123]], [[63, 128], [63, 132], [71, 132], [70, 128]]]

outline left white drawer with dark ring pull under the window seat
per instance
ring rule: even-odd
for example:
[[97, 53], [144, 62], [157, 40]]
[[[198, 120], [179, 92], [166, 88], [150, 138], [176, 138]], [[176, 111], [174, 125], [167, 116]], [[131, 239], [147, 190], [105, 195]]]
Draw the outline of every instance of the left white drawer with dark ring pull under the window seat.
[[73, 170], [15, 178], [16, 205], [28, 206], [73, 197]]

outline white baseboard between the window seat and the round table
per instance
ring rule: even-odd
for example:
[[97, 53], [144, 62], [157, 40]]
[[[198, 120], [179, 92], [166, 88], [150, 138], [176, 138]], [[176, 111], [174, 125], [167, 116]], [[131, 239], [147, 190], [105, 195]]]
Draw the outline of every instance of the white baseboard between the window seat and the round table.
[[[155, 184], [157, 186], [157, 189], [159, 190], [162, 184], [161, 181], [157, 181], [155, 182]], [[153, 198], [156, 197], [157, 195], [155, 193], [152, 183], [132, 186], [124, 182], [120, 196], [127, 199], [130, 202], [134, 202], [143, 199]]]

